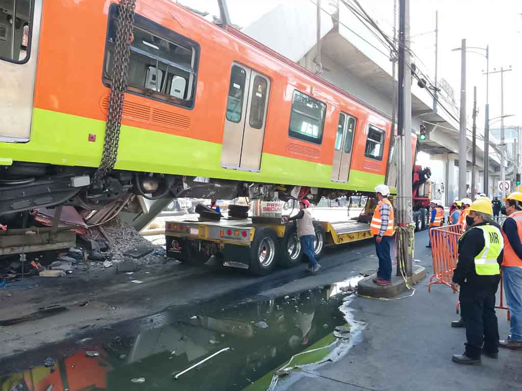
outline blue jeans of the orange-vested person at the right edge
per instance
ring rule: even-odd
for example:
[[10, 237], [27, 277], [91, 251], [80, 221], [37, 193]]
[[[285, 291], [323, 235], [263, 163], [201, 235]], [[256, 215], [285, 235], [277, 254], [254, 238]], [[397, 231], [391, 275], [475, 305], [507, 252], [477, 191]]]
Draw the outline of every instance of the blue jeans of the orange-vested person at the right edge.
[[507, 307], [511, 313], [511, 338], [522, 341], [522, 268], [504, 267], [502, 280]]

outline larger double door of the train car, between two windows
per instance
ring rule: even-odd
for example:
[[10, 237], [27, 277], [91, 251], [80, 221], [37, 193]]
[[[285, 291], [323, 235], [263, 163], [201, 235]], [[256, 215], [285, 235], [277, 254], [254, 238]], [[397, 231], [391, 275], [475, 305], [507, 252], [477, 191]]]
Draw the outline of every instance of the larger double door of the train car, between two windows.
[[269, 92], [267, 77], [244, 65], [232, 65], [221, 167], [260, 170]]

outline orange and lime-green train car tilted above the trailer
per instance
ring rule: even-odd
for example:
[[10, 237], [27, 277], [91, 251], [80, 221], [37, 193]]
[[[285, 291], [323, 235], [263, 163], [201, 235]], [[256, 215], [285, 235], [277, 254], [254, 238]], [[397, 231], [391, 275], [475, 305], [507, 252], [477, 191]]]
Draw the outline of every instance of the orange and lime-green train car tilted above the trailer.
[[117, 159], [94, 181], [119, 2], [0, 0], [0, 8], [0, 215], [72, 199], [102, 206], [131, 193], [189, 196], [195, 177], [232, 185], [233, 196], [254, 183], [335, 196], [385, 181], [384, 113], [170, 0], [135, 2]]

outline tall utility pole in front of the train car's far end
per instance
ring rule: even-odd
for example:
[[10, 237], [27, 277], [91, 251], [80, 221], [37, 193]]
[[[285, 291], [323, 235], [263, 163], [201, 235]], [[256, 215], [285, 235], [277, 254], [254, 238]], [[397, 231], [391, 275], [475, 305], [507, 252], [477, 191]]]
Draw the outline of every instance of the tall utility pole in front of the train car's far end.
[[[399, 0], [399, 80], [397, 146], [399, 164], [397, 188], [397, 275], [412, 275], [413, 229], [411, 192], [411, 73], [410, 73], [410, 3]], [[404, 267], [399, 259], [404, 260]]]

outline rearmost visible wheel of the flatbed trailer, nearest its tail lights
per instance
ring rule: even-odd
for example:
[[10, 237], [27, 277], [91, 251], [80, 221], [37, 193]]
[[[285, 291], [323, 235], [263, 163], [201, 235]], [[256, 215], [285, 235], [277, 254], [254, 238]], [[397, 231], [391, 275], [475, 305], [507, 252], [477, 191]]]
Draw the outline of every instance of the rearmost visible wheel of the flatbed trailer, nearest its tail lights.
[[248, 270], [257, 276], [266, 276], [276, 267], [277, 235], [271, 228], [258, 228], [250, 248]]

